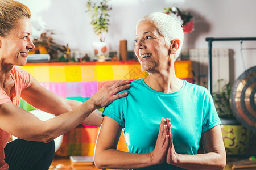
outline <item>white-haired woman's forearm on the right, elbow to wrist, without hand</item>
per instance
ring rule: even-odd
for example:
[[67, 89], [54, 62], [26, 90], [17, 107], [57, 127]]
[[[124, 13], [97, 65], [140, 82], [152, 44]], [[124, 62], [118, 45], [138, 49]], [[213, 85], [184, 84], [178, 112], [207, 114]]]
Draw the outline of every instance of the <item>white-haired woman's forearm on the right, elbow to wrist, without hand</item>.
[[197, 155], [178, 154], [177, 161], [173, 164], [184, 169], [224, 169], [225, 155], [216, 152]]

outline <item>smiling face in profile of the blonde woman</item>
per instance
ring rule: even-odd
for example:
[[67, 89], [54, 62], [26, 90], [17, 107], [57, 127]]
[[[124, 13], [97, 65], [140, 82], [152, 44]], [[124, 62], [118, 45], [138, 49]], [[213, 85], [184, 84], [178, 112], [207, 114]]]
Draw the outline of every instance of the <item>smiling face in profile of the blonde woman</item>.
[[29, 50], [35, 48], [30, 36], [31, 23], [29, 18], [20, 19], [8, 36], [0, 36], [1, 65], [25, 65]]

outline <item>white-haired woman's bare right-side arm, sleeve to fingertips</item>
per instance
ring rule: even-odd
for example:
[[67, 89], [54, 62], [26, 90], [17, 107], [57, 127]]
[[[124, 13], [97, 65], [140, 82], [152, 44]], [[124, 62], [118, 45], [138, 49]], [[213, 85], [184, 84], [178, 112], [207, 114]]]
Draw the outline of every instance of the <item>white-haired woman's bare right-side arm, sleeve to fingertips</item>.
[[222, 141], [220, 125], [205, 131], [202, 134], [201, 141], [205, 154], [177, 154], [172, 145], [172, 135], [170, 135], [167, 163], [184, 169], [224, 169], [226, 165], [226, 152]]

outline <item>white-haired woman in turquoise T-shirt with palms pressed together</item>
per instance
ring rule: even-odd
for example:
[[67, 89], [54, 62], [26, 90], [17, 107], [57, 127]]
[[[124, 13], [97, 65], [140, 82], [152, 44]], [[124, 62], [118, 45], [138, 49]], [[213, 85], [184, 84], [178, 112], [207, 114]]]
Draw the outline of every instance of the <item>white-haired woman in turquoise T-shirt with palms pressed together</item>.
[[[224, 169], [221, 121], [210, 92], [175, 74], [182, 44], [175, 18], [156, 12], [139, 20], [134, 52], [149, 75], [131, 82], [129, 95], [105, 108], [97, 168]], [[122, 130], [129, 153], [117, 150]], [[197, 152], [200, 142], [204, 154]]]

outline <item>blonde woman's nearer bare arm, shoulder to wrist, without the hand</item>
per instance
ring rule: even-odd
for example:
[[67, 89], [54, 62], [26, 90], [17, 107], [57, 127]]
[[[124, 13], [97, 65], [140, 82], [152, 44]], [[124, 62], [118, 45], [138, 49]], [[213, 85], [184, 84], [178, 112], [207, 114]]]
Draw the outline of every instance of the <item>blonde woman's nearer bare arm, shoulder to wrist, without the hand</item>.
[[88, 100], [72, 111], [41, 121], [11, 102], [3, 103], [0, 105], [0, 128], [22, 139], [49, 142], [75, 128], [94, 109], [94, 103]]

